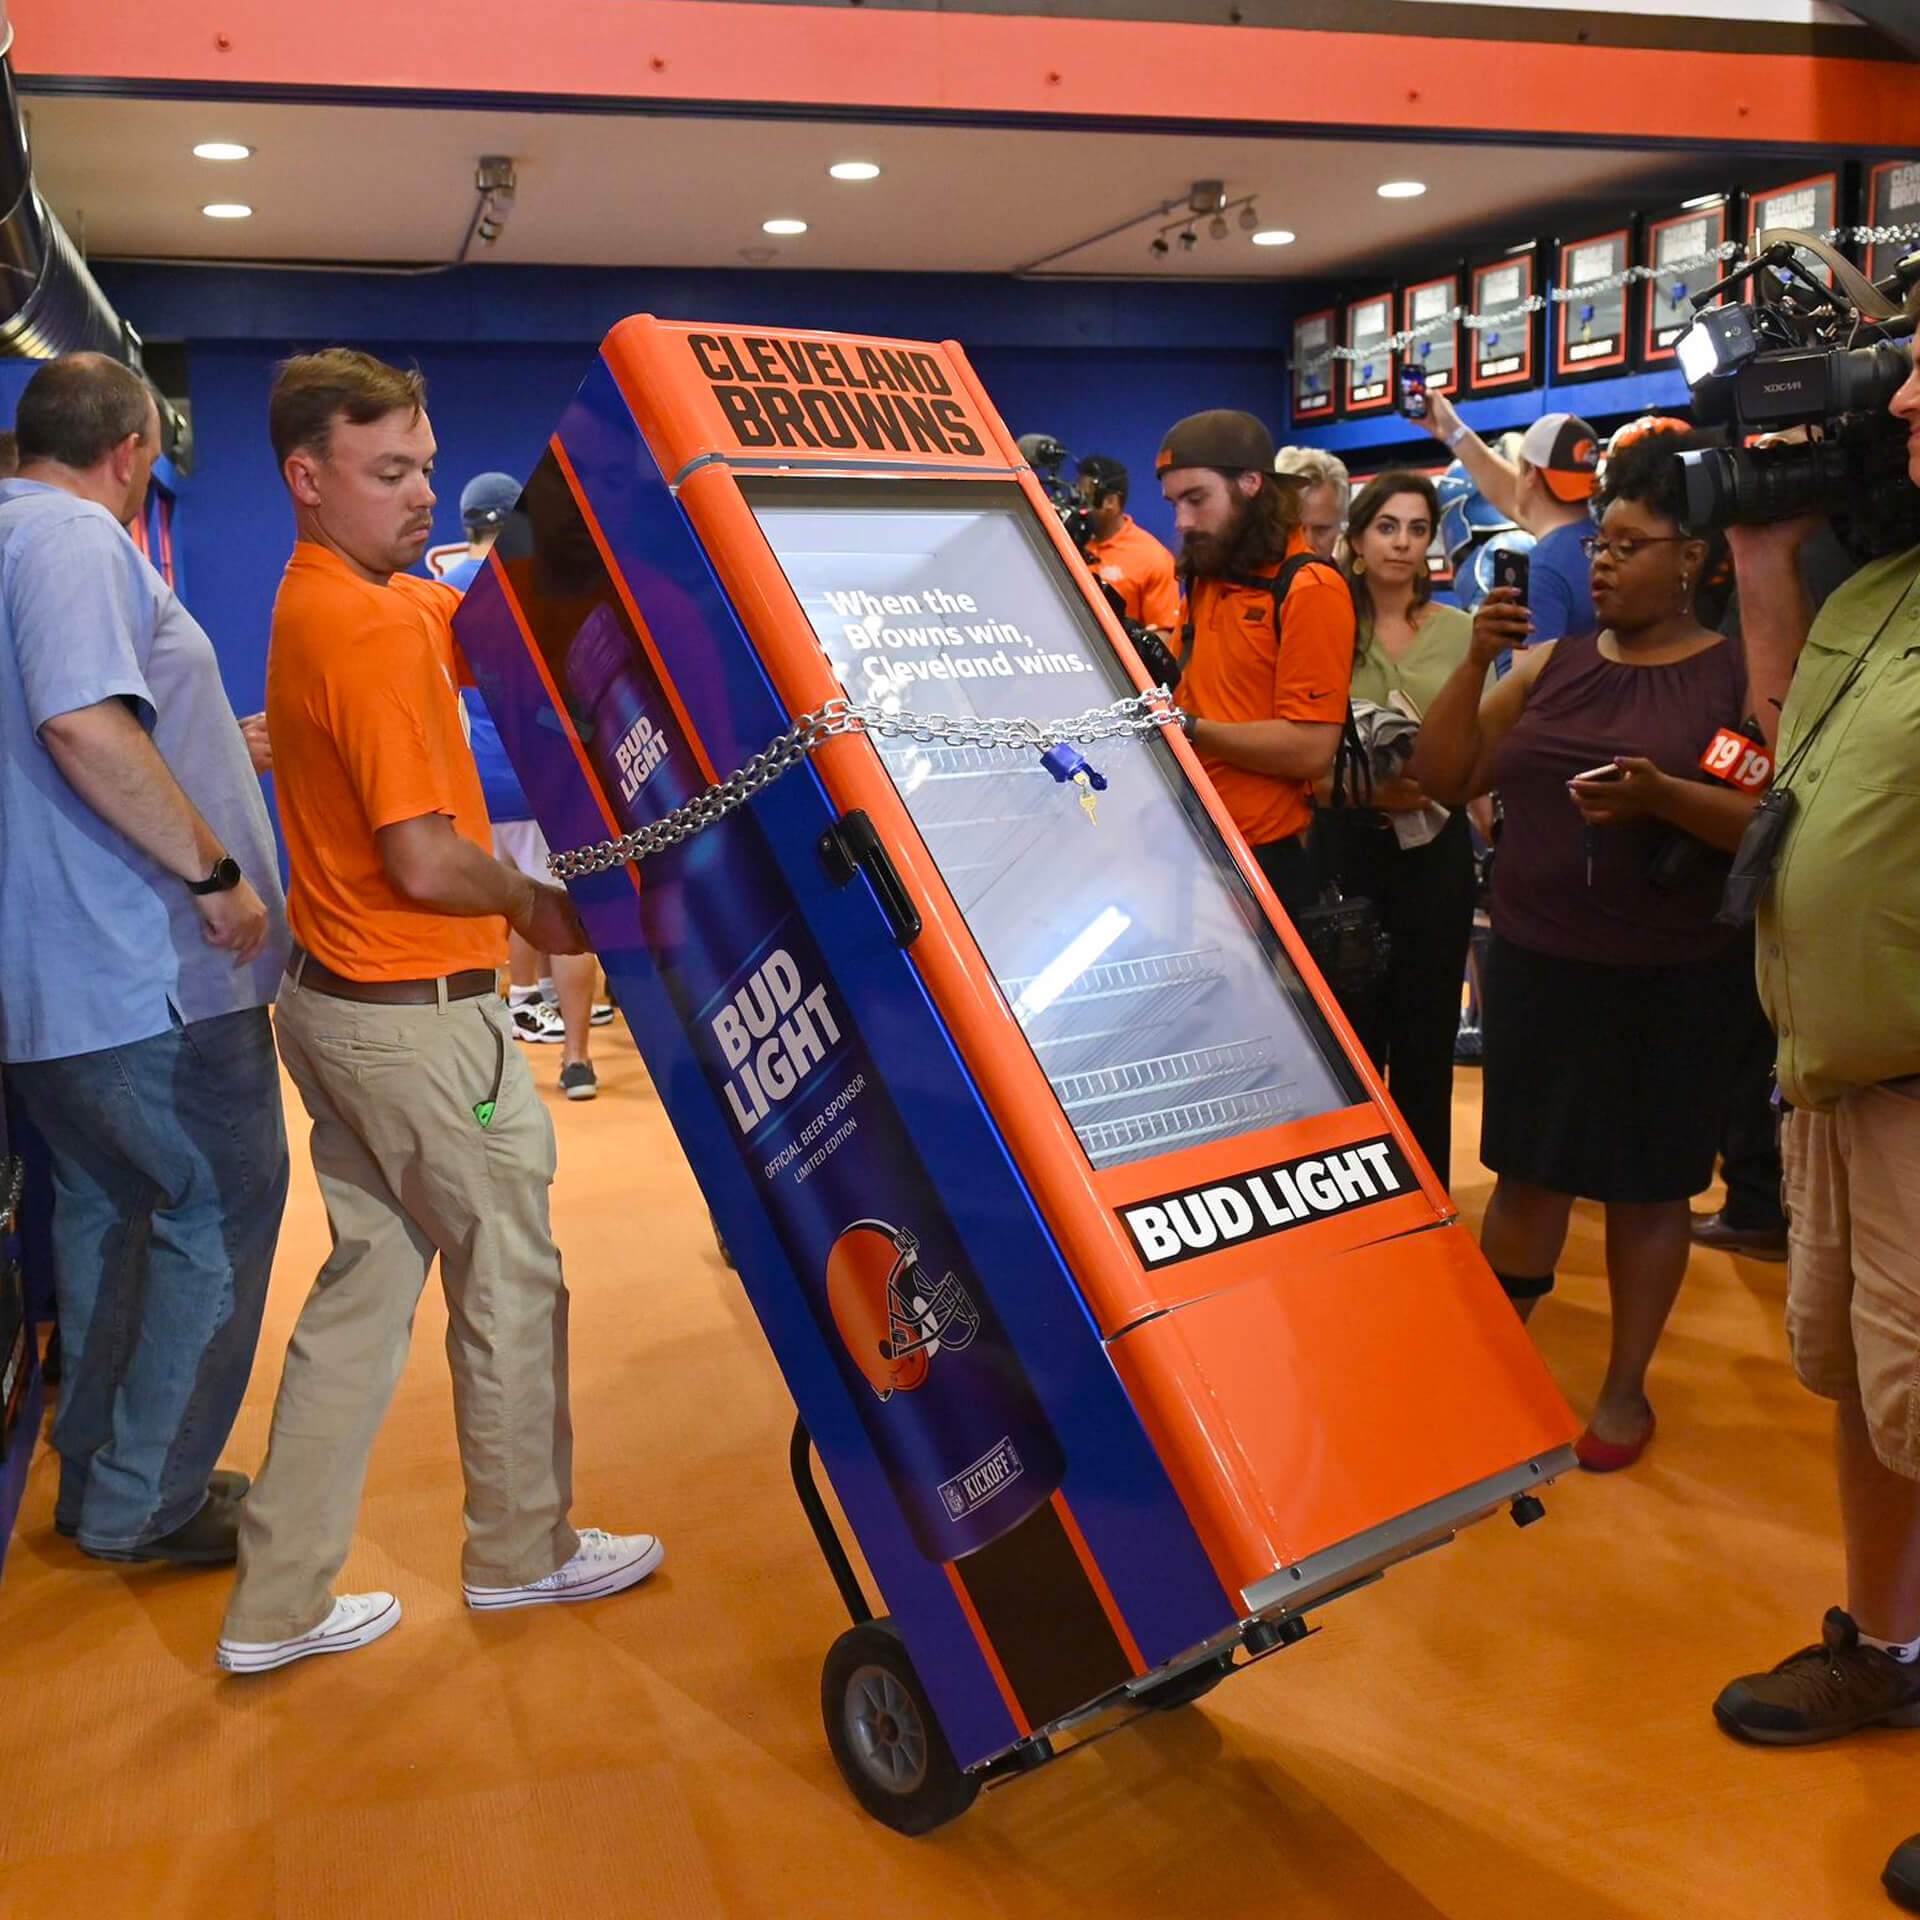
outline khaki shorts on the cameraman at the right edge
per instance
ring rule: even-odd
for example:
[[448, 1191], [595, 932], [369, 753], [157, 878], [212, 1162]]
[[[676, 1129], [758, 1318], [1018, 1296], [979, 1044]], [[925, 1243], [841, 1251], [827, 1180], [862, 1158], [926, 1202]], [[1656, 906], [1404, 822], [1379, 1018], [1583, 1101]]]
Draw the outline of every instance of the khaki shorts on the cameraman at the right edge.
[[1920, 1085], [1788, 1114], [1788, 1340], [1826, 1400], [1855, 1394], [1874, 1452], [1920, 1480]]

